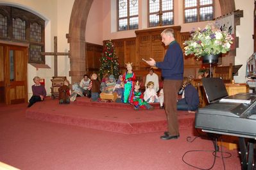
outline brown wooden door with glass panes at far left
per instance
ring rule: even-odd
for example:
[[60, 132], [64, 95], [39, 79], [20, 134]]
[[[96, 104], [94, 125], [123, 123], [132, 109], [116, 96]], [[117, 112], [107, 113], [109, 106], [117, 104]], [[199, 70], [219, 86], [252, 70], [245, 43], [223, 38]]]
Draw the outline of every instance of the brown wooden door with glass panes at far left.
[[28, 101], [28, 47], [0, 44], [0, 101], [7, 105]]

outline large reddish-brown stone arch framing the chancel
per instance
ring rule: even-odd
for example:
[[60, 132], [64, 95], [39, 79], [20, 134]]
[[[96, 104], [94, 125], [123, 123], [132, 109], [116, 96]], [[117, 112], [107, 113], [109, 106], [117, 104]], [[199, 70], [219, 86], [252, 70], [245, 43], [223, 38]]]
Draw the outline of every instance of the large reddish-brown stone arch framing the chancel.
[[[72, 82], [79, 82], [83, 74], [87, 71], [85, 67], [85, 30], [92, 2], [93, 0], [75, 0], [71, 12], [67, 39], [70, 44], [71, 52], [71, 71], [69, 71], [69, 76], [71, 76]], [[221, 15], [235, 10], [235, 0], [219, 0], [219, 4], [221, 6]]]

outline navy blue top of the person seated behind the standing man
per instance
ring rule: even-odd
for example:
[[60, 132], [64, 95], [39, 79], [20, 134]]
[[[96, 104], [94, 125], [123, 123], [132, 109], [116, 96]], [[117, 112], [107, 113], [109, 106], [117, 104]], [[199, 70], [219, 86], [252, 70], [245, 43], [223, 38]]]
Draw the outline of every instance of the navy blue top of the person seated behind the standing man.
[[189, 84], [185, 87], [185, 101], [188, 105], [189, 110], [194, 110], [195, 108], [198, 108], [199, 105], [199, 96], [198, 96], [198, 90], [194, 88], [193, 85]]

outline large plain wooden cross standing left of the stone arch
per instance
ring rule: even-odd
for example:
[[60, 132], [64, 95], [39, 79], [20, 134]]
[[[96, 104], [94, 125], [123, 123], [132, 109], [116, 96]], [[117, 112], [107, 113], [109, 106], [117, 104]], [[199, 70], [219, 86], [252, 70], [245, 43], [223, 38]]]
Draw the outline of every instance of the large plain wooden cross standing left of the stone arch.
[[61, 56], [70, 56], [70, 53], [58, 53], [58, 42], [57, 42], [57, 37], [54, 37], [54, 52], [42, 52], [41, 55], [46, 56], [46, 55], [51, 55], [54, 56], [54, 67], [55, 67], [55, 76], [58, 76], [58, 55]]

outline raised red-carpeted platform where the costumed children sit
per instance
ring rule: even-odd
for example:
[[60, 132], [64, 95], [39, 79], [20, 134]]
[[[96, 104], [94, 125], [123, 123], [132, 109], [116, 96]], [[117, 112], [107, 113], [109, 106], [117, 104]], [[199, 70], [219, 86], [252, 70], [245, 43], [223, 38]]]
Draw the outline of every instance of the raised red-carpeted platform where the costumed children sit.
[[[132, 105], [105, 103], [77, 98], [69, 105], [59, 105], [57, 99], [46, 99], [26, 110], [26, 117], [52, 123], [124, 134], [164, 132], [167, 128], [164, 109], [133, 110]], [[180, 129], [194, 128], [194, 114], [178, 111]]]

